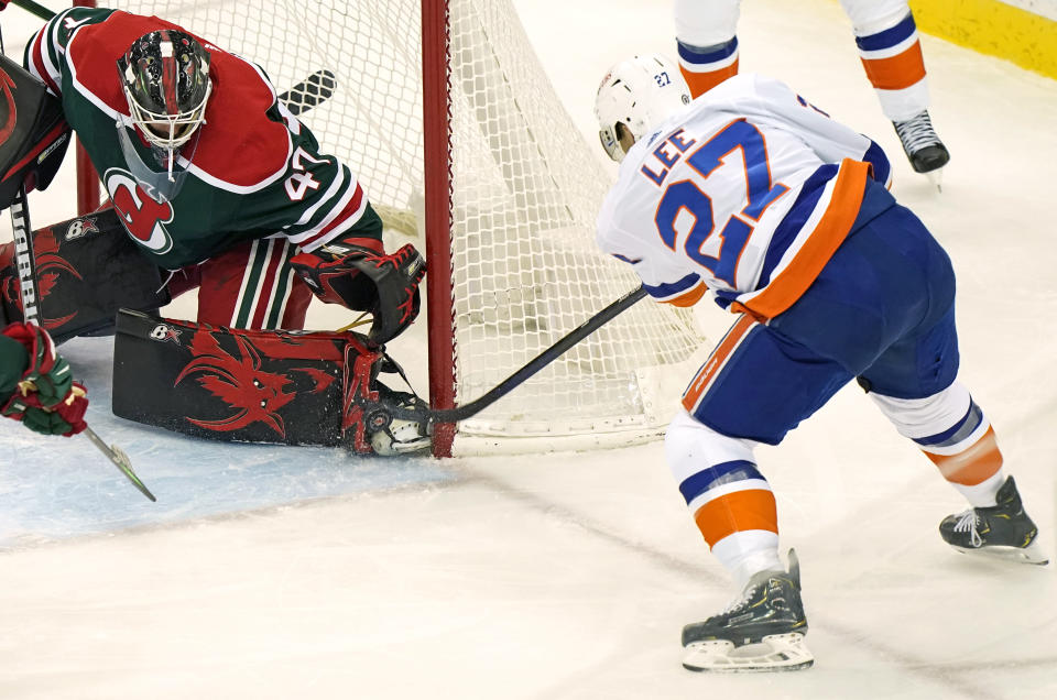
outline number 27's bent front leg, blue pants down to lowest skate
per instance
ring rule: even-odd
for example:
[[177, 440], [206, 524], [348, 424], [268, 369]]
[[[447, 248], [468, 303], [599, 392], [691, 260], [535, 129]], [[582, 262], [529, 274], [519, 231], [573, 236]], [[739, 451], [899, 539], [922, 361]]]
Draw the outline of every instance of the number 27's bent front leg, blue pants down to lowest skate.
[[778, 556], [774, 494], [753, 448], [778, 444], [821, 407], [851, 373], [743, 316], [683, 396], [665, 451], [679, 491], [740, 595], [683, 631], [691, 670], [793, 670], [811, 665], [799, 569]]

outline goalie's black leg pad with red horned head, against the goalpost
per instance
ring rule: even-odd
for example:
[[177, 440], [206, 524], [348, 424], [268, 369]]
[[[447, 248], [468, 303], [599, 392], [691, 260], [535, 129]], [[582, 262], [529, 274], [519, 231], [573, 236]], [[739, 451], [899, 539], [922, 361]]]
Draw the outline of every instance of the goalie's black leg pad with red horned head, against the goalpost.
[[113, 413], [199, 438], [346, 446], [360, 455], [429, 447], [417, 424], [373, 411], [414, 394], [378, 381], [399, 371], [382, 348], [347, 332], [242, 330], [122, 309], [113, 349]]

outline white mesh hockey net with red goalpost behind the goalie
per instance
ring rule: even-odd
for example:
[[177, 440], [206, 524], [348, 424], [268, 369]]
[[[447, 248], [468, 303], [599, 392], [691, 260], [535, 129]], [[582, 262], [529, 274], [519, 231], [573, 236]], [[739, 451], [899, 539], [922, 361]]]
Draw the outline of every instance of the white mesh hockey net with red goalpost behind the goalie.
[[[336, 75], [333, 97], [302, 119], [349, 164], [389, 229], [419, 236], [419, 249], [428, 233], [435, 407], [480, 396], [639, 284], [595, 245], [611, 175], [563, 108], [510, 0], [106, 4], [173, 21], [254, 61], [280, 90], [319, 69]], [[434, 78], [427, 65], [426, 80], [436, 80], [425, 88], [427, 122], [443, 131], [425, 157], [423, 46], [443, 63]], [[446, 200], [434, 220], [423, 214], [431, 186]], [[642, 302], [459, 424], [454, 451], [661, 435], [706, 347], [688, 310]], [[453, 449], [437, 442], [438, 453]]]

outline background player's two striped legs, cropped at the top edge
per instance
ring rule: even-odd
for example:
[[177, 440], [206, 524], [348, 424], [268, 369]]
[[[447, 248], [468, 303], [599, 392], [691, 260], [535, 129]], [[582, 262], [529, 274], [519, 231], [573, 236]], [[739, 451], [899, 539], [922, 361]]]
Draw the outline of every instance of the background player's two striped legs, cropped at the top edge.
[[[928, 116], [928, 81], [914, 14], [906, 0], [840, 0], [881, 111], [911, 166], [939, 182], [950, 154]], [[675, 0], [679, 68], [694, 97], [738, 73], [741, 0]]]

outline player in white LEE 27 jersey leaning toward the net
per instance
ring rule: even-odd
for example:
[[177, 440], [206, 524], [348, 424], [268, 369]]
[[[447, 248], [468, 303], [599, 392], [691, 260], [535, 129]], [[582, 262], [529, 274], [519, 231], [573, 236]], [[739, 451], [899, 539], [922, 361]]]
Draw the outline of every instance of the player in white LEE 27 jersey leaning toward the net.
[[787, 568], [780, 559], [775, 499], [753, 452], [852, 379], [969, 502], [940, 523], [945, 542], [1046, 564], [994, 430], [957, 380], [950, 260], [887, 192], [878, 144], [758, 75], [691, 101], [658, 55], [614, 66], [596, 111], [621, 162], [599, 245], [655, 300], [689, 306], [711, 293], [735, 315], [665, 441], [701, 535], [742, 591], [684, 628], [684, 666], [811, 665], [799, 567], [792, 550]]

